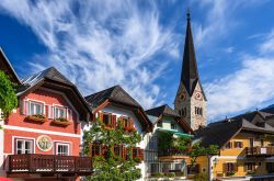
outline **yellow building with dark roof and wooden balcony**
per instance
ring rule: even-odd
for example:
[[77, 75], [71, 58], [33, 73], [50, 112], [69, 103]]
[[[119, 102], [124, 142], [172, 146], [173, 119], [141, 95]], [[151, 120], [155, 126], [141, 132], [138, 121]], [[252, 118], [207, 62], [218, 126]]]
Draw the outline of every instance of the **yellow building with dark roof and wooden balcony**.
[[195, 138], [202, 146], [217, 145], [219, 154], [198, 157], [194, 173], [206, 173], [210, 180], [274, 180], [273, 113], [265, 109], [198, 129]]

